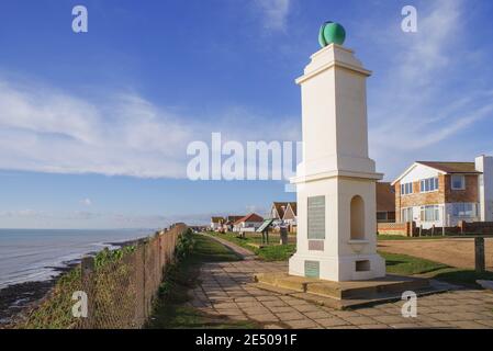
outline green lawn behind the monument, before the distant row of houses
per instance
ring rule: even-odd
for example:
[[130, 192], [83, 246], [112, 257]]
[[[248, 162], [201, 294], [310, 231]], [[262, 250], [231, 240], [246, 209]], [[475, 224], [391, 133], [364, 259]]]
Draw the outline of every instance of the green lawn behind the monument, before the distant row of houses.
[[[255, 245], [261, 245], [260, 237], [251, 237], [248, 236], [246, 238], [239, 238], [236, 233], [210, 233], [213, 236], [220, 237], [222, 239], [228, 240], [233, 244], [245, 248], [255, 254], [257, 254], [261, 260], [265, 261], [285, 261], [288, 260], [295, 251], [296, 246], [294, 244], [289, 245], [279, 245], [279, 237], [270, 237], [270, 245], [261, 248], [255, 247]], [[253, 246], [254, 245], [254, 246]]]

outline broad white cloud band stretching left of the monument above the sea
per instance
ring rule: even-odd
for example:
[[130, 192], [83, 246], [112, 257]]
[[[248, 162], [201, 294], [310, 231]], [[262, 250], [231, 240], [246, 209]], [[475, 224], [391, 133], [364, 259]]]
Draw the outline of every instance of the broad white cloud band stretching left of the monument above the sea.
[[[98, 101], [0, 77], [0, 169], [184, 178], [189, 143], [210, 141], [212, 132], [243, 143], [270, 140], [269, 131], [278, 129], [270, 116], [239, 107], [191, 118], [136, 93], [105, 93]], [[283, 129], [274, 137], [296, 139], [298, 126]]]

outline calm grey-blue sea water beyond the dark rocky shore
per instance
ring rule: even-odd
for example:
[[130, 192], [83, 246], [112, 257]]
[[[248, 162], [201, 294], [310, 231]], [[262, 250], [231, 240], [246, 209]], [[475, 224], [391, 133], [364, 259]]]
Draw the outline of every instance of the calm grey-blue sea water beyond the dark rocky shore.
[[54, 268], [83, 254], [150, 235], [150, 229], [0, 229], [0, 288], [57, 275]]

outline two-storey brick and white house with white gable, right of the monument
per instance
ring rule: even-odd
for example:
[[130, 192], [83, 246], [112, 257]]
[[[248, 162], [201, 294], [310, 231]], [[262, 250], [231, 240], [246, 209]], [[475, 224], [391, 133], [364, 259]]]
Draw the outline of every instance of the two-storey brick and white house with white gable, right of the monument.
[[416, 161], [392, 182], [396, 222], [457, 226], [493, 220], [493, 157], [475, 162]]

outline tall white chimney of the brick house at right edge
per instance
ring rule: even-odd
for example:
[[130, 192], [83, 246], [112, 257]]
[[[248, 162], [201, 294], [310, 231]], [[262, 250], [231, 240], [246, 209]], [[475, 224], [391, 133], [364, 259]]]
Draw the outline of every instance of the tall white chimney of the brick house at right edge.
[[478, 184], [481, 222], [493, 222], [493, 157], [477, 157], [475, 170], [482, 172]]

